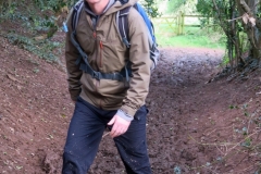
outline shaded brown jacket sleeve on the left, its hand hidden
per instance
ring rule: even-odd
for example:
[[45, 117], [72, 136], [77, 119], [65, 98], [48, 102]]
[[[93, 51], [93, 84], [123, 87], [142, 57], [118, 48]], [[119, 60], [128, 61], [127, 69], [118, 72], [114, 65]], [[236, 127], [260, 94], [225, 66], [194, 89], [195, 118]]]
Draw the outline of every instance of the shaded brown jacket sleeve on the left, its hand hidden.
[[66, 61], [66, 70], [67, 70], [67, 83], [69, 83], [69, 91], [72, 100], [76, 101], [77, 97], [80, 92], [80, 76], [83, 72], [79, 70], [78, 65], [75, 64], [79, 53], [77, 49], [71, 41], [72, 26], [70, 25], [72, 22], [72, 17], [69, 20], [67, 27], [69, 32], [66, 33], [65, 40], [65, 61]]

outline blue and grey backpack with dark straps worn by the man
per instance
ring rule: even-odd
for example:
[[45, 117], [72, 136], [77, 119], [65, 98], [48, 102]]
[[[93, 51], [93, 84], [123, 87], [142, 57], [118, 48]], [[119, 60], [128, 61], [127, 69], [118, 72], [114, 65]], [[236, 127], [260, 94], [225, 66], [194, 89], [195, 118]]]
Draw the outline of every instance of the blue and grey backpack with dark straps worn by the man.
[[[127, 1], [124, 0], [120, 0], [123, 3], [126, 3]], [[76, 26], [78, 24], [78, 18], [79, 18], [79, 13], [82, 11], [84, 7], [84, 1], [79, 0], [70, 11], [70, 14], [67, 16], [66, 22], [63, 23], [63, 30], [66, 33], [67, 32], [67, 21], [70, 18], [70, 16], [72, 16], [72, 28], [73, 28], [73, 33], [71, 35], [71, 40], [72, 44], [75, 46], [75, 48], [77, 48], [80, 57], [76, 60], [76, 64], [79, 64], [79, 69], [83, 70], [84, 72], [90, 74], [94, 78], [97, 79], [114, 79], [114, 80], [124, 80], [124, 77], [126, 78], [126, 80], [128, 82], [128, 76], [132, 76], [132, 71], [130, 71], [130, 64], [126, 63], [124, 70], [122, 70], [120, 73], [101, 73], [101, 72], [96, 72], [95, 70], [92, 70], [92, 67], [89, 65], [88, 63], [88, 57], [87, 54], [83, 51], [83, 49], [80, 48], [80, 46], [78, 45], [77, 40], [76, 40]], [[122, 37], [122, 41], [123, 44], [129, 48], [129, 39], [128, 39], [128, 21], [127, 21], [127, 15], [128, 12], [130, 10], [132, 7], [127, 7], [125, 9], [122, 9], [120, 11], [117, 11], [116, 14], [116, 24], [117, 24], [117, 29], [121, 34]], [[147, 29], [148, 29], [148, 38], [149, 38], [149, 49], [150, 49], [150, 59], [153, 62], [151, 70], [154, 70], [158, 61], [159, 61], [159, 57], [160, 57], [160, 51], [158, 49], [158, 45], [156, 41], [156, 37], [154, 37], [154, 28], [153, 28], [153, 24], [150, 21], [150, 18], [148, 17], [146, 11], [144, 10], [144, 8], [139, 4], [139, 3], [135, 3], [134, 8], [139, 12], [139, 14], [142, 16], [146, 25], [147, 25]], [[85, 63], [80, 63], [82, 60], [84, 60]]]

